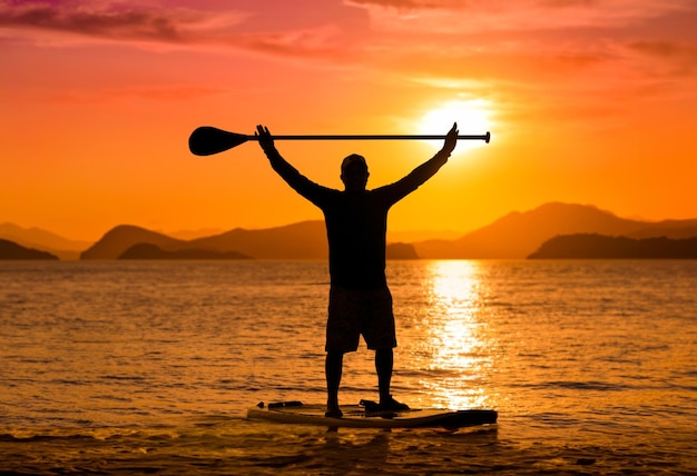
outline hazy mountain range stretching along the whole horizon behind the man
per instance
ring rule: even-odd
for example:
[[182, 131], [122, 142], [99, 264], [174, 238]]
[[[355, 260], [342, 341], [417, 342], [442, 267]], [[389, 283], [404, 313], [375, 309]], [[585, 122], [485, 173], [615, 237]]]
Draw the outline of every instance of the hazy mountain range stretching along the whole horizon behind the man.
[[[4, 224], [0, 226], [0, 238], [51, 251], [61, 259], [76, 259], [78, 255], [80, 259], [177, 259], [204, 255], [208, 256], [205, 259], [326, 259], [327, 256], [326, 230], [321, 220], [261, 230], [237, 228], [188, 240], [121, 225], [109, 230], [95, 244], [82, 244], [85, 246], [77, 249], [84, 251], [71, 251], [72, 255], [65, 250], [75, 250], [79, 242], [38, 229], [24, 231]], [[11, 237], [8, 237], [9, 232]], [[508, 214], [457, 239], [391, 244], [387, 247], [387, 258], [522, 259], [557, 236], [575, 234], [634, 239], [683, 239], [697, 237], [697, 219], [658, 222], [630, 220], [592, 206], [553, 202], [529, 211]], [[143, 244], [150, 247], [134, 250], [134, 247]], [[183, 252], [185, 250], [188, 251]]]

